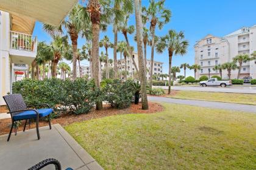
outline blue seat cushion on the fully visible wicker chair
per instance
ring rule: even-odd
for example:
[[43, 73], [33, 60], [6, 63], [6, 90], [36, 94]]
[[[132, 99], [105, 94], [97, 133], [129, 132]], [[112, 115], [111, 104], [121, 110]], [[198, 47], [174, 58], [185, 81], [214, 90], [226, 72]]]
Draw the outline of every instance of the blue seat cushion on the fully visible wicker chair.
[[[53, 111], [51, 108], [50, 109], [37, 109], [39, 113], [39, 117], [46, 117], [51, 112]], [[19, 114], [16, 114], [13, 116], [13, 120], [25, 120], [25, 119], [30, 119], [30, 118], [36, 118], [37, 114], [33, 110], [27, 110], [25, 112], [21, 112]]]

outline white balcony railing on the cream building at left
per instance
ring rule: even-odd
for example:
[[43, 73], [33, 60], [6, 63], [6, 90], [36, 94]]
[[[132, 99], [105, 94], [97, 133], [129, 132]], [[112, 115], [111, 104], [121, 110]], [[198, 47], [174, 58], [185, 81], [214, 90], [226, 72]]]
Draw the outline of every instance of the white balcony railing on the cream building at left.
[[10, 31], [10, 49], [37, 52], [37, 37]]

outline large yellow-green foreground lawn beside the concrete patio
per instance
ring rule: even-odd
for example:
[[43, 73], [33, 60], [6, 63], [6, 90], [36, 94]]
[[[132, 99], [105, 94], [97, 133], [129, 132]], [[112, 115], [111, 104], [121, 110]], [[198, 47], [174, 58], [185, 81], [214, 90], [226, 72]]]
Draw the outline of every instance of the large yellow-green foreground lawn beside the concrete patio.
[[104, 169], [256, 169], [256, 115], [180, 104], [66, 126]]

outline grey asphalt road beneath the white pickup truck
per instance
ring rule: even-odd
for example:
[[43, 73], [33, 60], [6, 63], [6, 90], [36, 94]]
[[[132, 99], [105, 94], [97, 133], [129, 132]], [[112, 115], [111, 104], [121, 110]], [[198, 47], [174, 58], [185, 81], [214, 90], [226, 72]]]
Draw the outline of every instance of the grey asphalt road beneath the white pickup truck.
[[[154, 86], [168, 89], [168, 86]], [[201, 87], [201, 86], [172, 86], [172, 90], [188, 90], [199, 92], [224, 92], [238, 94], [256, 94], [255, 86], [232, 86], [232, 87]]]

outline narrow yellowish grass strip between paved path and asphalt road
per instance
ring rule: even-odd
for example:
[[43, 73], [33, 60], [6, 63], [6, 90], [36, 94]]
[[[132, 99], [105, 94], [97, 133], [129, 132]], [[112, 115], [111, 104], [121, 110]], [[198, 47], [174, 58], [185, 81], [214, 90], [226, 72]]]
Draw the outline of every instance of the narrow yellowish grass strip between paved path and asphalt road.
[[171, 98], [191, 99], [191, 100], [208, 100], [221, 101], [227, 103], [253, 104], [256, 105], [255, 94], [233, 94], [221, 92], [196, 92], [177, 90], [177, 94], [168, 95]]

